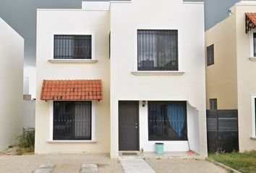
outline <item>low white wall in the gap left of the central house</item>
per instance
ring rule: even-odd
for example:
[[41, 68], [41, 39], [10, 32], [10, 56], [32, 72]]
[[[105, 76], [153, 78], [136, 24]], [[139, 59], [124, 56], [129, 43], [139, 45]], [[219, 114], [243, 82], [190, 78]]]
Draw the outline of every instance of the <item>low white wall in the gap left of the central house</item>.
[[35, 100], [23, 100], [23, 128], [35, 128]]

